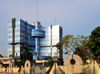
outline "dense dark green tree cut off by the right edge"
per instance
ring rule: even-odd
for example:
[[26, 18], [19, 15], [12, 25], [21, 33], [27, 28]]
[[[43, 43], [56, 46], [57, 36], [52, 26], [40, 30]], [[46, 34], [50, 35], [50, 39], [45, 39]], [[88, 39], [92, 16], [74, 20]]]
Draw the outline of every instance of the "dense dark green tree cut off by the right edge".
[[92, 43], [91, 51], [94, 54], [94, 59], [99, 59], [100, 60], [100, 26], [95, 28], [90, 35], [90, 41]]

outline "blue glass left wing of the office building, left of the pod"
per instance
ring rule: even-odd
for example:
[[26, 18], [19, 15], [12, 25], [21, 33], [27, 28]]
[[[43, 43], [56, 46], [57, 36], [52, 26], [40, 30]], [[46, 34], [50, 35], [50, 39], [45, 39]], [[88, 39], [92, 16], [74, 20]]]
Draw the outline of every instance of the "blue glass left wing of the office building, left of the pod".
[[24, 45], [31, 46], [30, 48], [35, 50], [35, 39], [31, 37], [31, 30], [34, 29], [35, 26], [26, 23], [21, 19], [15, 20], [15, 29], [14, 29], [14, 42], [13, 45], [13, 27], [12, 21], [8, 22], [8, 56], [13, 54], [13, 47], [15, 49], [15, 57], [18, 56], [20, 58], [21, 47]]

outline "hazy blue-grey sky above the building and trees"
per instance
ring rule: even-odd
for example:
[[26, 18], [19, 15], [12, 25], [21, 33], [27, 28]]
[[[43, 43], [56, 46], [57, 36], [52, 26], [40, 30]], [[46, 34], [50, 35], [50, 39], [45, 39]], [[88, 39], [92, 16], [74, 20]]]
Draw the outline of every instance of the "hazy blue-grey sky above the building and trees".
[[[0, 0], [0, 54], [7, 55], [7, 23], [21, 18], [28, 23], [37, 20], [36, 0]], [[56, 18], [56, 20], [55, 20]], [[89, 36], [100, 26], [100, 0], [38, 0], [41, 25], [59, 24], [67, 34]]]

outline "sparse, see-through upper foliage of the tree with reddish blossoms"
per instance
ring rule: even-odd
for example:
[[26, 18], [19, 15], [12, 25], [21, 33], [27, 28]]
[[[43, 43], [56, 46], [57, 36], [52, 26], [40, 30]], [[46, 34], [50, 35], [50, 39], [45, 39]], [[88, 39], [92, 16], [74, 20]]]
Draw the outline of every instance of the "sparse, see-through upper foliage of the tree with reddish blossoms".
[[66, 49], [65, 53], [68, 54], [68, 52], [74, 51], [77, 47], [86, 46], [88, 43], [88, 37], [84, 37], [83, 35], [77, 35], [77, 37], [74, 37], [73, 35], [66, 35], [62, 41], [57, 43], [56, 47], [58, 51], [60, 51], [59, 49], [62, 48], [62, 45], [64, 45], [64, 48]]

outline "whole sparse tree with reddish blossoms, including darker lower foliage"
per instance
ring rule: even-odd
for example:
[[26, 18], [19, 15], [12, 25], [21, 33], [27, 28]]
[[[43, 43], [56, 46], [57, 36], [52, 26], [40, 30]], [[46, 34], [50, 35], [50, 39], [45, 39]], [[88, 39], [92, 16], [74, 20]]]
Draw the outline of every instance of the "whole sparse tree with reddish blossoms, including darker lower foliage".
[[85, 61], [91, 56], [91, 48], [89, 47], [90, 44], [88, 36], [85, 37], [83, 35], [77, 35], [77, 37], [74, 37], [73, 35], [66, 35], [62, 41], [57, 43], [56, 47], [58, 52], [60, 52], [59, 49], [62, 48], [63, 45], [66, 50], [65, 54], [70, 54], [71, 51], [73, 51], [75, 54], [78, 54], [83, 61]]

